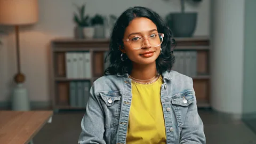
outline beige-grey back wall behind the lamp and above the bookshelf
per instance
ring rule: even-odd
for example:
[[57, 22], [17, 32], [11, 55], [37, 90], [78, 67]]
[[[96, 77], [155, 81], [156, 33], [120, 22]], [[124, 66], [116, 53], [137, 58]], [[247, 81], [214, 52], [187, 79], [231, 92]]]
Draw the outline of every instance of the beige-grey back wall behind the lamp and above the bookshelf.
[[[39, 22], [34, 26], [21, 28], [20, 48], [21, 48], [21, 69], [26, 74], [25, 87], [28, 88], [31, 101], [49, 101], [49, 43], [54, 37], [73, 37], [73, 12], [75, 6], [73, 3], [82, 4], [82, 0], [39, 0]], [[86, 1], [86, 13], [94, 15], [95, 13], [103, 14], [121, 14], [130, 6], [147, 6], [163, 17], [169, 12], [180, 11], [178, 0], [94, 0]], [[195, 36], [209, 35], [209, 11], [210, 0], [203, 0], [197, 7], [186, 4], [186, 11], [198, 12], [198, 25]], [[5, 71], [2, 85], [12, 83], [13, 75], [16, 70], [15, 63], [15, 39], [11, 27], [2, 27], [8, 29], [9, 35], [5, 49], [0, 50], [4, 55], [8, 55], [7, 63], [1, 63], [1, 71]], [[2, 77], [1, 77], [2, 79]], [[13, 85], [13, 83], [12, 83]], [[10, 86], [10, 85], [8, 85]], [[0, 101], [10, 99], [10, 91], [0, 91]]]

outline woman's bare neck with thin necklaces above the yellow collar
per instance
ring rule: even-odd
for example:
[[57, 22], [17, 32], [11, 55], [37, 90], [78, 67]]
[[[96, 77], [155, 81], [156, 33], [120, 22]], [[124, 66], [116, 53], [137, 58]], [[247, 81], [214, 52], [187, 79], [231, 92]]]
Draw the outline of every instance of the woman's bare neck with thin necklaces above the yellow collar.
[[[152, 81], [152, 78], [157, 75], [157, 70], [156, 70], [156, 63], [152, 63], [150, 65], [133, 65], [132, 71], [130, 76], [135, 78], [135, 79], [141, 79], [143, 81], [139, 82], [150, 82]], [[145, 81], [147, 79], [150, 79], [149, 81]]]

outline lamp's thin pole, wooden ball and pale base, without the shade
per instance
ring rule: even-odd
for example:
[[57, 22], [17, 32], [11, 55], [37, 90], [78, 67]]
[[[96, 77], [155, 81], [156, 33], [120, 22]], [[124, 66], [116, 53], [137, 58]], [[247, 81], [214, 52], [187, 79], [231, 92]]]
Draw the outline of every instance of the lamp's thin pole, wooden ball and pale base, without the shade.
[[23, 87], [25, 75], [20, 70], [20, 42], [19, 42], [19, 26], [15, 26], [16, 36], [16, 54], [17, 54], [17, 70], [18, 73], [14, 76], [14, 81], [17, 86], [13, 89], [12, 110], [28, 111], [30, 110], [28, 91]]

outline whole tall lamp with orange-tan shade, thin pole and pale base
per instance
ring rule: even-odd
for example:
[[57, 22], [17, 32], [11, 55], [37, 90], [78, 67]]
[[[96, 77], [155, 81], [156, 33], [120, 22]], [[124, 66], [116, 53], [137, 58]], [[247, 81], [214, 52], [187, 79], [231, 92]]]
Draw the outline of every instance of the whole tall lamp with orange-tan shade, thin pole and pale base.
[[0, 25], [14, 26], [16, 37], [17, 74], [14, 81], [17, 86], [13, 90], [12, 109], [29, 110], [27, 90], [22, 87], [25, 75], [20, 68], [19, 27], [31, 25], [38, 21], [37, 0], [0, 0]]

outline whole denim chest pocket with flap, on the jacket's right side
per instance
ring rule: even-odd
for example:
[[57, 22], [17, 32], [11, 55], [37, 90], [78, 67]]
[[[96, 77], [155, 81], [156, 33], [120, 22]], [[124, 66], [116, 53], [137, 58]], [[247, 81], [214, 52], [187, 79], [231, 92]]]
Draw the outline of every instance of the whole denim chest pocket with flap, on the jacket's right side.
[[196, 99], [193, 91], [175, 94], [172, 98], [171, 102], [179, 127], [182, 127], [185, 122], [189, 105], [195, 101]]

